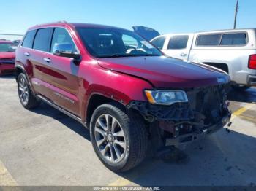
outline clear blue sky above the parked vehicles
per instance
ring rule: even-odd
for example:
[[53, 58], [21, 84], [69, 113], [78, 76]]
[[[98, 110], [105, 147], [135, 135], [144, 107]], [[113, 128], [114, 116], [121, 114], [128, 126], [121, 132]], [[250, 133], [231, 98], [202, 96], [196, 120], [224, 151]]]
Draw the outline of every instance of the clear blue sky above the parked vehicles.
[[[0, 0], [0, 34], [24, 34], [30, 26], [59, 20], [130, 30], [148, 26], [160, 34], [227, 29], [233, 28], [235, 5], [236, 0]], [[256, 28], [255, 7], [256, 0], [239, 1], [237, 28]]]

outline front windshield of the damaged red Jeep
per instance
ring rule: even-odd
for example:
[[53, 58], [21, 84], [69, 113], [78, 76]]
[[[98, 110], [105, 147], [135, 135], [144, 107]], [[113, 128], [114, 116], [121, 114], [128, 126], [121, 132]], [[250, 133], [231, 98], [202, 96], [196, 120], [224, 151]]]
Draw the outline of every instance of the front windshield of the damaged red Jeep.
[[97, 58], [159, 56], [162, 53], [132, 31], [119, 28], [77, 28], [86, 49]]

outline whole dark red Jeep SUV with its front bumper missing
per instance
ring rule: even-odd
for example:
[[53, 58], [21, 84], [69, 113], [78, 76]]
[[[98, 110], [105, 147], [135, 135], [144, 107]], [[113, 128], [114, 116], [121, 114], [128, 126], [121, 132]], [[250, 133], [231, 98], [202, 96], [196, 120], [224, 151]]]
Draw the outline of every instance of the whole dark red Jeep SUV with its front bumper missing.
[[20, 103], [44, 101], [89, 128], [99, 159], [127, 171], [230, 120], [227, 74], [167, 58], [132, 31], [83, 23], [29, 28], [16, 50]]

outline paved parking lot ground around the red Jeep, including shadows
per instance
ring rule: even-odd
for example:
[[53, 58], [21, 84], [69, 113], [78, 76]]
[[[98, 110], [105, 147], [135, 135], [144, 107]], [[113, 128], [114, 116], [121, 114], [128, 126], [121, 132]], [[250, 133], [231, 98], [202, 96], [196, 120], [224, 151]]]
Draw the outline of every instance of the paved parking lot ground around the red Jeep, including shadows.
[[192, 144], [182, 160], [147, 159], [122, 174], [100, 163], [79, 122], [47, 104], [23, 109], [16, 89], [13, 76], [0, 77], [0, 185], [256, 184], [256, 88], [230, 93], [230, 132]]

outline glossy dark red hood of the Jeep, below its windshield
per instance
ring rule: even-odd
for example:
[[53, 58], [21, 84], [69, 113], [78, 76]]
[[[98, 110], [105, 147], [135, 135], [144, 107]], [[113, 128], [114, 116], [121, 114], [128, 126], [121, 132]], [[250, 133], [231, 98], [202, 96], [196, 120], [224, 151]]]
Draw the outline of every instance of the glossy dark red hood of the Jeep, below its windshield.
[[206, 87], [229, 82], [227, 74], [165, 56], [102, 58], [99, 66], [151, 82], [159, 88]]

